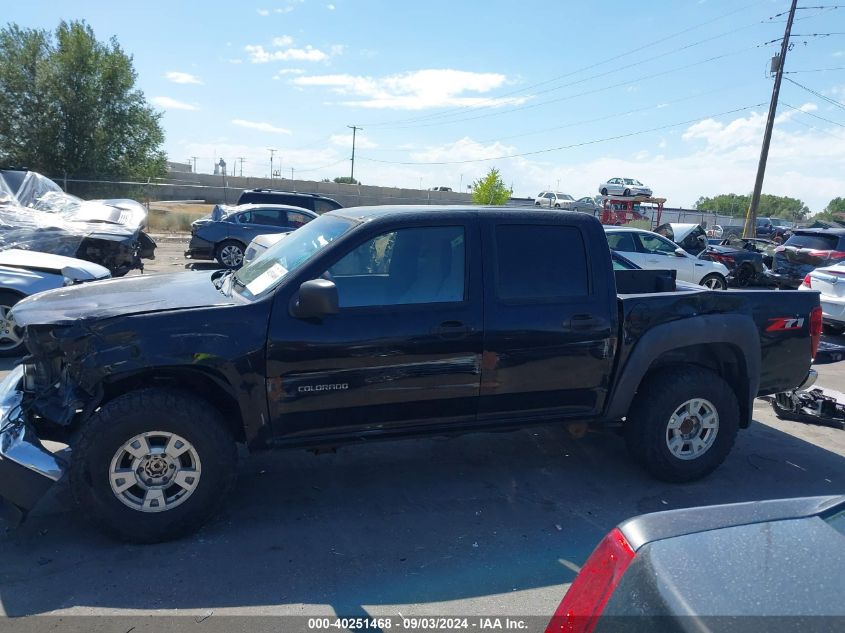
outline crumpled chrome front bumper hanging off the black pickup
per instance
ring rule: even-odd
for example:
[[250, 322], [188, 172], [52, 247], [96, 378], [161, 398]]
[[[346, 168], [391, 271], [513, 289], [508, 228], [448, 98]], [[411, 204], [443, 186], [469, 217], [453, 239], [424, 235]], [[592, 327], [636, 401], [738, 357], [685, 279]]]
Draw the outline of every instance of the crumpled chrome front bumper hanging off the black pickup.
[[0, 383], [0, 510], [18, 523], [67, 470], [64, 460], [35, 436], [21, 409], [18, 366]]

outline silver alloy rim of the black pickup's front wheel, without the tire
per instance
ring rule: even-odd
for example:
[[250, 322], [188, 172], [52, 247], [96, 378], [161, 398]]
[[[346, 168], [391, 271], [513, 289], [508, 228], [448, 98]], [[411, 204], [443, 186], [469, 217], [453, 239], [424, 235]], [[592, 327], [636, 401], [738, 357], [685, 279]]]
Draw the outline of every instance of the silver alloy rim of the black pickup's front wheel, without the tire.
[[193, 445], [167, 431], [136, 435], [121, 446], [109, 466], [109, 483], [120, 501], [141, 512], [164, 512], [197, 489], [202, 467]]

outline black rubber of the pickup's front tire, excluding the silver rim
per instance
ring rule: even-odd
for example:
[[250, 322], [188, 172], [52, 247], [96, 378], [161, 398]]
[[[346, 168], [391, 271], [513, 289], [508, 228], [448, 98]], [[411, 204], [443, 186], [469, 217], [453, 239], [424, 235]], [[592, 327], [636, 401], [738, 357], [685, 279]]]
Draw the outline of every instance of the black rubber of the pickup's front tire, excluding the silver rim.
[[[112, 459], [132, 438], [152, 431], [189, 442], [199, 457], [199, 482], [172, 509], [143, 512], [112, 491]], [[207, 402], [169, 388], [131, 391], [106, 403], [80, 429], [73, 445], [70, 489], [97, 527], [120, 539], [156, 543], [197, 530], [235, 484], [237, 447], [220, 413]]]

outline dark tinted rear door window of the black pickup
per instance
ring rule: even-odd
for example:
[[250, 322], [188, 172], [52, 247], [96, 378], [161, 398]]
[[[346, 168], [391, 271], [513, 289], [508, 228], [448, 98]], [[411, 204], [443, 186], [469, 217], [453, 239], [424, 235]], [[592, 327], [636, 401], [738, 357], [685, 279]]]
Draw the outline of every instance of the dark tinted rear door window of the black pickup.
[[589, 295], [587, 254], [571, 226], [496, 227], [496, 295], [500, 300]]

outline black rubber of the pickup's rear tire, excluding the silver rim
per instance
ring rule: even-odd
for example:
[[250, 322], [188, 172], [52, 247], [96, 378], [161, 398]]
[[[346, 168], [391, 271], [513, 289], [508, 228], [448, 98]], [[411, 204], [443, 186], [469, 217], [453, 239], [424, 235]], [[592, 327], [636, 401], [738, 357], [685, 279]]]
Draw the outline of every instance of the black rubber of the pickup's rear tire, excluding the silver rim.
[[[673, 414], [693, 398], [713, 404], [718, 428], [713, 444], [694, 459], [680, 459], [668, 446]], [[673, 366], [643, 378], [625, 421], [624, 435], [632, 457], [652, 476], [673, 483], [700, 479], [728, 456], [739, 429], [736, 394], [721, 376], [708, 369]]]

